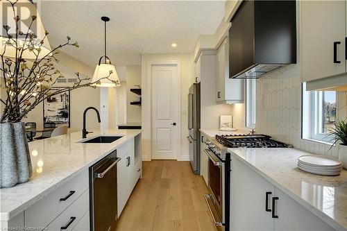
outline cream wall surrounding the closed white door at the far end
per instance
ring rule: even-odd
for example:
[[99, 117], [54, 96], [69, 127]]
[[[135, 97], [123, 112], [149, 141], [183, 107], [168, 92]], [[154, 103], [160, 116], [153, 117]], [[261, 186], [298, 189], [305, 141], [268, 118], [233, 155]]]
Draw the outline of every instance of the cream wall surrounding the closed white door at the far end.
[[186, 54], [144, 54], [142, 55], [142, 155], [143, 160], [151, 160], [151, 118], [147, 117], [147, 112], [151, 110], [151, 102], [147, 102], [147, 64], [149, 62], [180, 62], [180, 135], [181, 135], [181, 151], [178, 153], [178, 160], [189, 160], [189, 146], [187, 141], [187, 94], [192, 84], [191, 79], [194, 74], [192, 55]]

